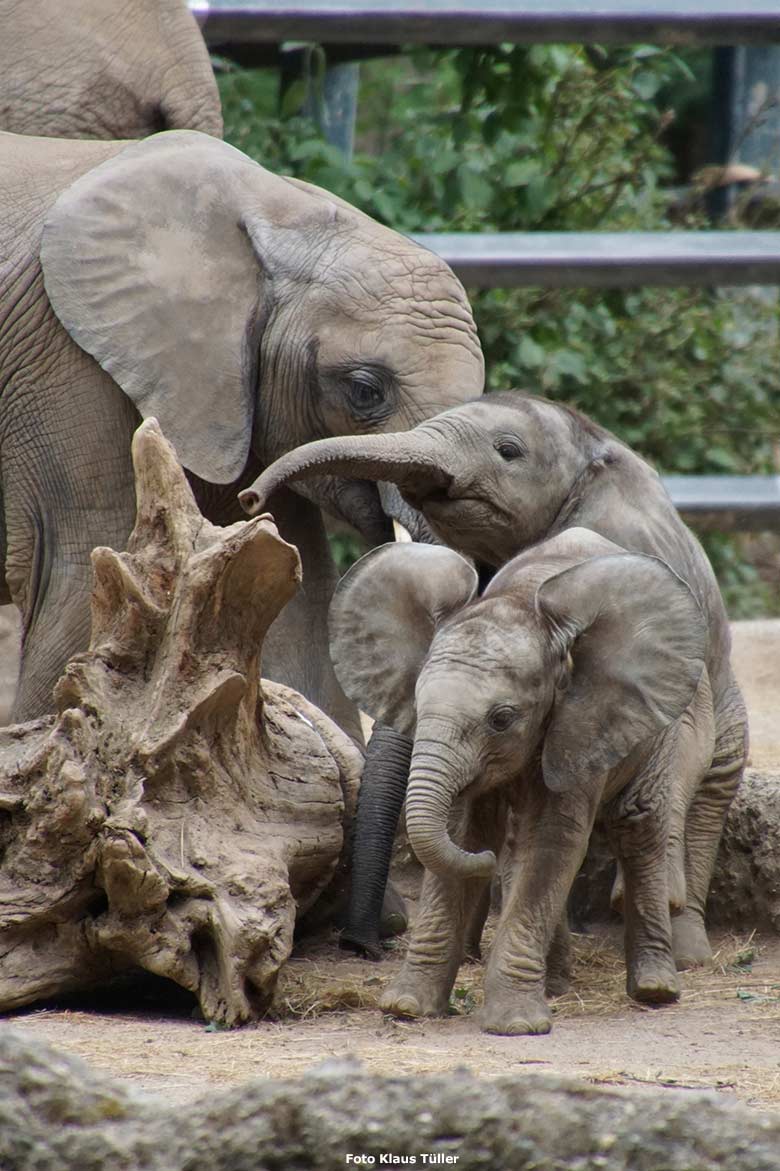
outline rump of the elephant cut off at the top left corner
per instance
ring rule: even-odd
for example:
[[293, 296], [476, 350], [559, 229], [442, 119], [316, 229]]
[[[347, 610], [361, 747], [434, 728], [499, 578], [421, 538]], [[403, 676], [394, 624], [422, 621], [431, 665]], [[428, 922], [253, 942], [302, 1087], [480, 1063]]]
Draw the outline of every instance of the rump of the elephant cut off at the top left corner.
[[223, 133], [208, 53], [185, 0], [0, 0], [0, 130]]

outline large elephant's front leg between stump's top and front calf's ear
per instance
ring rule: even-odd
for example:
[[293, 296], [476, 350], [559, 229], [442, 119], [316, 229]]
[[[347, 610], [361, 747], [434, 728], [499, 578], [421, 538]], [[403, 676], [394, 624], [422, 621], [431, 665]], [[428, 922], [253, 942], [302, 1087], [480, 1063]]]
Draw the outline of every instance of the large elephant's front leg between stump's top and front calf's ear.
[[300, 590], [271, 626], [262, 646], [266, 678], [300, 691], [363, 745], [357, 707], [336, 679], [328, 645], [328, 607], [338, 580], [322, 514], [287, 488], [268, 502], [280, 535], [297, 546], [303, 568]]

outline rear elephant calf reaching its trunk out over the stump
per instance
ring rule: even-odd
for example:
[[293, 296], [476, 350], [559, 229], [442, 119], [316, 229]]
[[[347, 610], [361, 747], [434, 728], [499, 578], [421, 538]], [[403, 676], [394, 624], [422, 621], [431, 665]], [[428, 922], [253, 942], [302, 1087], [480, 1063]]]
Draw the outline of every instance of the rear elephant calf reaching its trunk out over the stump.
[[[709, 631], [716, 739], [689, 812], [686, 902], [673, 933], [682, 966], [704, 963], [711, 954], [704, 904], [723, 820], [745, 765], [746, 713], [714, 575], [655, 471], [577, 411], [506, 391], [404, 436], [335, 439], [290, 452], [244, 494], [245, 508], [261, 508], [280, 484], [328, 471], [391, 481], [442, 541], [488, 566], [582, 526], [630, 552], [661, 557], [690, 586]], [[614, 900], [620, 905], [622, 898], [618, 875]]]

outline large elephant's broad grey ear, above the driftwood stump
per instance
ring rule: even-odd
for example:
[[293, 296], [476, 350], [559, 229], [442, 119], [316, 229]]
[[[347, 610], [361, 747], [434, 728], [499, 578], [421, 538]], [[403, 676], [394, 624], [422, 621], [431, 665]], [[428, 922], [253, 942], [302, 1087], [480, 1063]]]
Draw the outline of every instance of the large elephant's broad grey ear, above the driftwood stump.
[[62, 324], [144, 418], [157, 417], [185, 467], [215, 484], [240, 475], [252, 436], [264, 199], [282, 226], [299, 205], [323, 214], [227, 143], [167, 131], [76, 179], [43, 231]]

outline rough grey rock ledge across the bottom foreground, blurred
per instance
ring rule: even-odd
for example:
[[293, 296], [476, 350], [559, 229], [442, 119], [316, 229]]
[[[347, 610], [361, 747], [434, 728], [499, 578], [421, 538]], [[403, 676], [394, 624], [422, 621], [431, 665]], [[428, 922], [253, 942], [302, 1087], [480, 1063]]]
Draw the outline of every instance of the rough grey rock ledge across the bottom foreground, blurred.
[[394, 1165], [383, 1155], [417, 1167], [449, 1157], [458, 1171], [778, 1171], [780, 1115], [716, 1094], [552, 1075], [485, 1081], [465, 1070], [376, 1077], [344, 1061], [300, 1081], [252, 1081], [183, 1110], [111, 1084], [21, 1033], [0, 1038], [4, 1171]]

